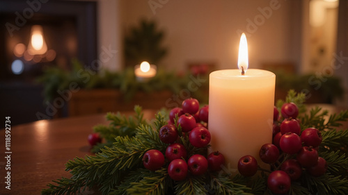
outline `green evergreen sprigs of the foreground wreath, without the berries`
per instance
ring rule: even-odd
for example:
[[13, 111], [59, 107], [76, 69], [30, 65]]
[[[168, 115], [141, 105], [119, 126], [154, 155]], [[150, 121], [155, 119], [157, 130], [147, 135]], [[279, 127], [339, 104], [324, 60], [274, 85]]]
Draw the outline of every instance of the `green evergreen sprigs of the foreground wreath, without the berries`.
[[[290, 91], [285, 101], [294, 101], [301, 107], [305, 96]], [[283, 101], [283, 102], [285, 102]], [[125, 117], [108, 113], [109, 126], [96, 126], [95, 131], [113, 139], [111, 146], [99, 146], [100, 153], [74, 158], [66, 165], [71, 178], [60, 178], [54, 184], [47, 185], [42, 194], [75, 194], [87, 189], [95, 189], [102, 194], [272, 194], [267, 188], [270, 172], [261, 172], [251, 178], [240, 175], [231, 176], [223, 169], [219, 172], [207, 171], [202, 176], [191, 173], [182, 181], [174, 181], [168, 176], [168, 162], [158, 171], [143, 168], [141, 158], [150, 149], [164, 153], [168, 144], [160, 141], [158, 130], [166, 124], [166, 116], [159, 112], [156, 119], [148, 124], [143, 120], [141, 108], [134, 108], [135, 115]], [[324, 158], [328, 169], [323, 176], [311, 176], [303, 169], [301, 178], [292, 181], [289, 194], [347, 194], [348, 192], [348, 157], [346, 151], [348, 130], [335, 130], [340, 121], [348, 118], [347, 110], [338, 115], [329, 116], [326, 110], [313, 108], [308, 113], [301, 112], [303, 127], [317, 127], [322, 132], [323, 142], [319, 146], [319, 156]], [[323, 117], [328, 117], [324, 121]], [[177, 124], [176, 124], [177, 125]], [[177, 126], [182, 135], [181, 127]], [[180, 137], [180, 143], [187, 148], [187, 153], [200, 153], [207, 156], [207, 147], [197, 149], [191, 146], [187, 134]], [[272, 166], [279, 169], [280, 164], [295, 155], [283, 155], [280, 162]]]

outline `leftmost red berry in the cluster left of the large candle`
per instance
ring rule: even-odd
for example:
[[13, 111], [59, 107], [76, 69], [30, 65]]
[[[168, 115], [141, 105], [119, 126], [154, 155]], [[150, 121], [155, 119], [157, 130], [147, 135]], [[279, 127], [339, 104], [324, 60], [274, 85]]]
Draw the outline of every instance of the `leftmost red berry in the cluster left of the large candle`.
[[143, 164], [146, 169], [156, 171], [164, 165], [164, 155], [161, 151], [150, 150], [143, 155]]

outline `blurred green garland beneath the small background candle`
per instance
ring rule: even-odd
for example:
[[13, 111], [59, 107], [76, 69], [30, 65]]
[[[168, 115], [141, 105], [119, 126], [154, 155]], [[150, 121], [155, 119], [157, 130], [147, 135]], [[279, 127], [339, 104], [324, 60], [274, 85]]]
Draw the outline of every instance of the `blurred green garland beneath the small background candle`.
[[[191, 96], [202, 103], [207, 103], [207, 94], [204, 93], [208, 88], [207, 76], [199, 76], [199, 78], [205, 80], [205, 82], [199, 83], [197, 86], [199, 90], [192, 91]], [[196, 78], [192, 78], [191, 74], [180, 76], [175, 71], [158, 69], [156, 76], [148, 82], [139, 82], [134, 75], [134, 67], [118, 72], [103, 71], [97, 74], [88, 68], [84, 68], [78, 60], [72, 60], [71, 70], [48, 67], [36, 81], [44, 85], [43, 95], [45, 101], [53, 101], [54, 98], [59, 96], [58, 90], [70, 90], [70, 83], [77, 83], [77, 89], [79, 90], [119, 90], [123, 101], [130, 101], [137, 92], [150, 94], [151, 92], [168, 90], [173, 94], [179, 94], [181, 90], [189, 89], [187, 83], [190, 83], [193, 79]]]

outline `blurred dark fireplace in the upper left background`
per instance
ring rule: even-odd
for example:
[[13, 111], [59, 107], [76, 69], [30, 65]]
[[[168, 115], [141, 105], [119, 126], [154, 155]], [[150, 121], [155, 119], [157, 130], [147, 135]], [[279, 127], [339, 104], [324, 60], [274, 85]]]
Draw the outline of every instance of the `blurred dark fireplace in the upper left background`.
[[[13, 123], [21, 124], [37, 120], [36, 112], [45, 113], [42, 87], [35, 84], [35, 78], [45, 67], [70, 69], [72, 58], [79, 59], [86, 67], [92, 65], [97, 59], [96, 4], [95, 1], [0, 0], [1, 117], [12, 115]], [[51, 53], [51, 58], [42, 55], [25, 58], [14, 52], [16, 46], [28, 49], [35, 25], [42, 27], [47, 51], [53, 51], [53, 57]], [[18, 62], [22, 63], [23, 71]]]

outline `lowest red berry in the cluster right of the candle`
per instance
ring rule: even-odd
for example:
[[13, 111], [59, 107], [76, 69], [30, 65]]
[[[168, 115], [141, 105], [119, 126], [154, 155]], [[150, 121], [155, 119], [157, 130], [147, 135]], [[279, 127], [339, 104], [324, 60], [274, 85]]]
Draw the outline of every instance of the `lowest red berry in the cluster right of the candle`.
[[267, 186], [274, 194], [286, 194], [291, 187], [290, 176], [285, 171], [273, 171], [268, 176]]

